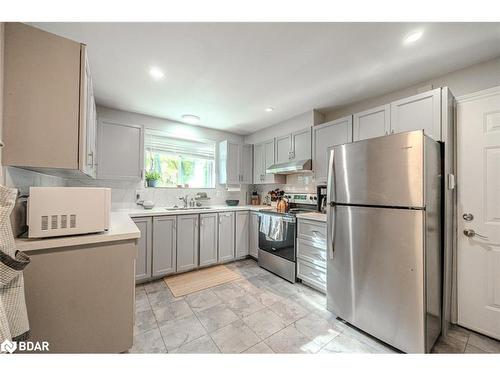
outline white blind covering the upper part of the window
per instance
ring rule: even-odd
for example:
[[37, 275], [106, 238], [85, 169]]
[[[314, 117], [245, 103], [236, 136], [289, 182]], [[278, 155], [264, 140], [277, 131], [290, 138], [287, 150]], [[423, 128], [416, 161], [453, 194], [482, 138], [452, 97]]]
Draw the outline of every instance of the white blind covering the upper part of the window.
[[215, 142], [175, 138], [151, 129], [146, 129], [144, 138], [149, 151], [215, 160]]

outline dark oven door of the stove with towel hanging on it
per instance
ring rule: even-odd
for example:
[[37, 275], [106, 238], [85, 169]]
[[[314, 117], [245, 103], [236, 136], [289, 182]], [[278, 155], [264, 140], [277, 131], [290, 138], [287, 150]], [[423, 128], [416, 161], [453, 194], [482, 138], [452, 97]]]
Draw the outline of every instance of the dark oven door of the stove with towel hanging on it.
[[[265, 221], [265, 216], [268, 216], [272, 226], [272, 220], [279, 220], [283, 225], [282, 236], [279, 239], [269, 237], [267, 232], [268, 226], [262, 225]], [[259, 215], [259, 249], [270, 254], [279, 256], [291, 262], [295, 262], [295, 226], [294, 217], [276, 213], [262, 213]]]

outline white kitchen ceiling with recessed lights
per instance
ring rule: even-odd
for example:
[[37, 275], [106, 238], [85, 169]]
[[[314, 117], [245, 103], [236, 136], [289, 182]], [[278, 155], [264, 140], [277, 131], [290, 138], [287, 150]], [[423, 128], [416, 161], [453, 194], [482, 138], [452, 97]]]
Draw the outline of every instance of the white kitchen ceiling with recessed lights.
[[[238, 134], [500, 55], [500, 23], [35, 25], [88, 45], [99, 104]], [[423, 37], [404, 45], [413, 30]]]

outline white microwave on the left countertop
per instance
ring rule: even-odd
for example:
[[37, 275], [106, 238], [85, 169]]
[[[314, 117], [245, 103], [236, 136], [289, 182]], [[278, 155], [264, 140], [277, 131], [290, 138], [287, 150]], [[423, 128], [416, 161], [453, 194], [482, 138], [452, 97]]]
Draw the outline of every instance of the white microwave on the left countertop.
[[98, 233], [109, 229], [111, 189], [30, 187], [29, 238]]

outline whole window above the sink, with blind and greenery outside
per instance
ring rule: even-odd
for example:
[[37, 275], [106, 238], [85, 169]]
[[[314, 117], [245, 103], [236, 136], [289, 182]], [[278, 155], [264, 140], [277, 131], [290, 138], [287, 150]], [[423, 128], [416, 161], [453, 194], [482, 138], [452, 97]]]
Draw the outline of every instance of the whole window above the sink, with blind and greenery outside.
[[215, 142], [175, 138], [146, 129], [146, 172], [158, 172], [157, 187], [215, 187]]

